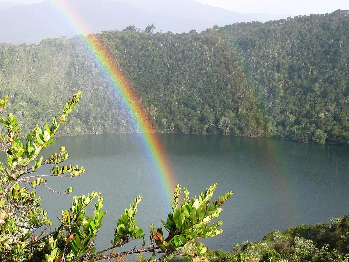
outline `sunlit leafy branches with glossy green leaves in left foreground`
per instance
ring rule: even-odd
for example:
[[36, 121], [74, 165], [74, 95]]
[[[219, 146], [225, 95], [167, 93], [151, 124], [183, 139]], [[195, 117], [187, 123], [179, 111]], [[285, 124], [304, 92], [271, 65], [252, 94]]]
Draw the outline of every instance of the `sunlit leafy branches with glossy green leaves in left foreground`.
[[[82, 93], [77, 92], [64, 105], [58, 117], [54, 117], [52, 125], [46, 124], [42, 129], [36, 126], [27, 134], [26, 144], [21, 141], [17, 119], [9, 114], [6, 119], [1, 119], [7, 129], [4, 139], [7, 155], [5, 166], [0, 163], [0, 260], [1, 261], [98, 261], [112, 259], [128, 254], [143, 252], [179, 254], [180, 249], [189, 243], [196, 243], [199, 238], [218, 235], [222, 229], [221, 221], [209, 224], [222, 212], [221, 206], [232, 195], [224, 194], [216, 201], [210, 201], [218, 184], [211, 185], [199, 197], [189, 197], [187, 189], [184, 191], [184, 200], [179, 204], [182, 188], [177, 185], [174, 190], [172, 213], [168, 214], [166, 221], [162, 221], [163, 228], [155, 230], [150, 226], [150, 245], [145, 246], [142, 228], [136, 225], [135, 215], [142, 197], [138, 196], [134, 202], [125, 209], [117, 221], [112, 246], [101, 251], [94, 248], [94, 239], [102, 226], [103, 197], [101, 192], [91, 192], [85, 196], [73, 196], [72, 206], [69, 210], [62, 211], [59, 226], [46, 234], [36, 234], [39, 228], [44, 230], [51, 227], [53, 222], [47, 213], [40, 208], [40, 197], [36, 196], [35, 187], [44, 186], [53, 192], [70, 194], [72, 187], [66, 192], [57, 192], [46, 185], [47, 179], [52, 176], [75, 177], [86, 172], [79, 166], [61, 166], [60, 163], [69, 158], [66, 147], [60, 147], [58, 153], [50, 158], [40, 157], [43, 149], [52, 145], [53, 138], [59, 127], [66, 123], [69, 114], [79, 103]], [[1, 104], [1, 107], [4, 107]], [[4, 136], [5, 137], [5, 136]], [[42, 165], [53, 165], [51, 173], [35, 175]], [[94, 204], [92, 216], [86, 214], [86, 207]], [[48, 232], [48, 231], [47, 231]], [[142, 248], [117, 252], [116, 248], [126, 245], [135, 239], [143, 239]], [[200, 255], [206, 252], [206, 247], [201, 243], [196, 244], [196, 253], [189, 256]], [[144, 259], [145, 260], [145, 259]]]

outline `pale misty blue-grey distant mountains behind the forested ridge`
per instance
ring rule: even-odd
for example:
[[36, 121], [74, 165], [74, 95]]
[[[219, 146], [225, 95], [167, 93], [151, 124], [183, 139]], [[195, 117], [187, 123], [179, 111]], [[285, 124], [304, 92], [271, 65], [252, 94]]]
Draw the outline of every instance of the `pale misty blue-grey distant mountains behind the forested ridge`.
[[[241, 14], [212, 7], [194, 0], [69, 0], [65, 1], [75, 18], [83, 21], [88, 33], [121, 30], [134, 24], [142, 30], [154, 24], [156, 31], [200, 32], [215, 24], [224, 26], [235, 22], [275, 20], [288, 15]], [[74, 36], [72, 21], [54, 1], [31, 5], [0, 2], [0, 42], [21, 44], [37, 43], [44, 38]]]

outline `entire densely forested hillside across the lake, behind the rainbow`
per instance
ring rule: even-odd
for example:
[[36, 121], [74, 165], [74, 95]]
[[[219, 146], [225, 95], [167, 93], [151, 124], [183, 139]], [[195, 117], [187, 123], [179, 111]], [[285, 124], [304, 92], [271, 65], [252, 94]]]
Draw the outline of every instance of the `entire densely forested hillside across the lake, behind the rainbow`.
[[[349, 145], [348, 14], [236, 23], [200, 34], [130, 26], [95, 37], [117, 58], [159, 132]], [[63, 133], [138, 131], [79, 37], [0, 44], [0, 85], [11, 110], [32, 126], [81, 89], [84, 100]]]

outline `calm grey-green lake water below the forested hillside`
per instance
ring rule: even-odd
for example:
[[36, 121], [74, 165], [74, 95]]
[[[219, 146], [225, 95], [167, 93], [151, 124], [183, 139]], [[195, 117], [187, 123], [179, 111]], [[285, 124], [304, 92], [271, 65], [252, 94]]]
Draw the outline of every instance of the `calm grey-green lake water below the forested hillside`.
[[[191, 194], [197, 195], [213, 182], [220, 184], [216, 197], [234, 191], [220, 218], [224, 232], [204, 241], [210, 248], [230, 251], [234, 243], [260, 240], [270, 231], [349, 214], [348, 147], [263, 138], [159, 137], [177, 182]], [[103, 192], [107, 214], [98, 247], [110, 245], [117, 219], [135, 196], [143, 196], [138, 223], [144, 232], [151, 223], [160, 226], [159, 219], [165, 220], [171, 210], [171, 199], [154, 175], [140, 139], [140, 134], [112, 134], [64, 137], [55, 142], [56, 147], [67, 147], [69, 163], [83, 165], [88, 173], [74, 179], [53, 178], [49, 185], [63, 191], [72, 185], [74, 195]], [[69, 208], [71, 196], [52, 194], [45, 188], [38, 191], [50, 217]]]

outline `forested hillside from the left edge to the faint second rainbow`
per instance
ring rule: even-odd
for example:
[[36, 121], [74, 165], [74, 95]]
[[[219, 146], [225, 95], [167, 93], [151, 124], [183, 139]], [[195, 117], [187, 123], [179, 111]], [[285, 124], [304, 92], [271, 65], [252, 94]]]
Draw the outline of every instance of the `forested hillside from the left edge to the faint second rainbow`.
[[[96, 37], [118, 58], [156, 130], [263, 134], [253, 91], [221, 34], [151, 34], [131, 27]], [[23, 121], [44, 123], [61, 97], [79, 88], [84, 101], [68, 133], [137, 131], [117, 90], [79, 38], [2, 45], [0, 61], [1, 93], [10, 95], [9, 111], [25, 109], [22, 115], [16, 112]], [[37, 107], [41, 113], [32, 118]]]

